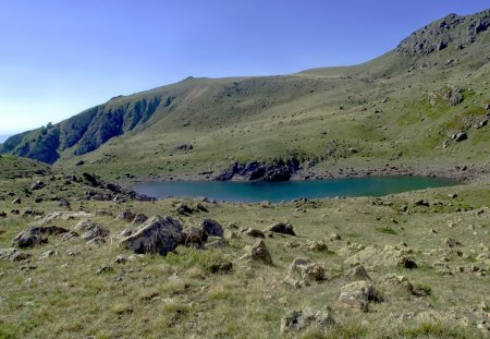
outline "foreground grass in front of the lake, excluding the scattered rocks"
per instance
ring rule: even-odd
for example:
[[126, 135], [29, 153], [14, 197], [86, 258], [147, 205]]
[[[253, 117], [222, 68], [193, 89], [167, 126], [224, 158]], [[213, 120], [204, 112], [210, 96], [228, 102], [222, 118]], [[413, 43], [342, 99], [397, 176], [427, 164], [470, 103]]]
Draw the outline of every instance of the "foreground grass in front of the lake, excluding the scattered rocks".
[[[404, 193], [381, 199], [326, 199], [267, 208], [258, 204], [205, 203], [209, 213], [183, 217], [174, 213], [177, 199], [122, 204], [85, 201], [83, 186], [64, 184], [64, 177], [57, 172], [48, 177], [52, 180], [44, 179], [48, 186], [25, 196], [24, 189], [39, 179], [32, 174], [39, 165], [0, 158], [0, 173], [7, 173], [13, 164], [27, 171], [23, 178], [9, 179], [9, 174], [2, 174], [0, 179], [3, 197], [0, 211], [9, 215], [0, 218], [0, 247], [10, 246], [15, 234], [34, 221], [33, 217], [22, 216], [25, 208], [41, 209], [45, 214], [60, 210], [56, 202], [45, 199], [37, 204], [34, 201], [51, 194], [69, 197], [74, 210], [99, 211], [94, 220], [107, 227], [111, 237], [133, 228], [126, 221], [114, 219], [128, 208], [149, 216], [174, 216], [185, 227], [213, 218], [225, 226], [229, 245], [206, 251], [179, 247], [176, 255], [137, 257], [119, 249], [115, 240], [89, 245], [79, 238], [62, 241], [50, 237], [47, 244], [25, 251], [32, 255], [30, 262], [0, 259], [0, 338], [278, 338], [281, 317], [289, 310], [305, 307], [331, 307], [340, 323], [327, 331], [308, 329], [301, 334], [305, 338], [480, 337], [476, 326], [485, 315], [474, 310], [478, 310], [482, 301], [490, 303], [488, 184]], [[9, 192], [14, 196], [9, 196]], [[448, 194], [454, 192], [458, 197], [450, 198]], [[15, 196], [23, 199], [22, 205], [15, 207], [21, 209], [21, 216], [10, 213], [11, 199]], [[443, 206], [415, 207], [413, 202], [419, 198], [431, 203], [440, 201]], [[184, 203], [195, 204], [193, 201]], [[407, 213], [400, 211], [403, 205], [408, 206]], [[106, 213], [100, 214], [102, 210]], [[477, 214], [479, 210], [483, 211]], [[266, 240], [274, 262], [272, 267], [249, 265], [240, 259], [245, 246], [254, 240], [244, 234], [230, 239], [233, 229], [228, 225], [237, 225], [235, 232], [240, 234], [240, 229], [265, 229], [284, 220], [294, 225], [298, 237], [277, 235]], [[72, 229], [76, 222], [77, 219], [60, 220], [53, 225]], [[333, 232], [342, 240], [330, 241]], [[445, 247], [443, 241], [448, 237], [462, 245], [455, 250]], [[305, 245], [311, 240], [324, 241], [329, 251], [308, 251]], [[390, 265], [368, 268], [377, 288], [384, 294], [384, 302], [371, 304], [368, 313], [342, 311], [336, 306], [336, 299], [344, 281], [335, 276], [348, 268], [343, 263], [348, 254], [342, 251], [347, 242], [381, 247], [405, 242], [414, 250], [419, 268], [406, 270]], [[59, 254], [40, 259], [49, 250]], [[458, 255], [457, 251], [462, 253]], [[478, 258], [480, 254], [487, 258]], [[113, 264], [118, 255], [132, 259], [126, 264]], [[296, 257], [308, 257], [320, 264], [327, 270], [328, 280], [299, 290], [290, 287], [284, 278]], [[220, 275], [207, 270], [209, 264], [220, 262], [232, 262], [233, 271]], [[441, 274], [437, 263], [446, 265], [453, 276]], [[97, 269], [105, 265], [113, 270], [97, 275]], [[487, 274], [468, 271], [471, 265]], [[458, 266], [465, 271], [458, 273]], [[404, 275], [415, 286], [431, 288], [432, 293], [416, 298], [389, 290], [380, 283], [388, 273]]]

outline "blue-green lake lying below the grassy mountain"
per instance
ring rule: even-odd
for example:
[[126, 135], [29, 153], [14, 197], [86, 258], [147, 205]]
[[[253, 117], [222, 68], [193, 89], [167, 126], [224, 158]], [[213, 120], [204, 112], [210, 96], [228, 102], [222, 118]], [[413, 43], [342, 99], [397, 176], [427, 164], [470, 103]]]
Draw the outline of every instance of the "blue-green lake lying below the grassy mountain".
[[298, 197], [382, 196], [454, 184], [457, 182], [440, 178], [369, 177], [285, 182], [163, 181], [139, 183], [133, 190], [158, 198], [206, 196], [225, 202], [279, 203]]

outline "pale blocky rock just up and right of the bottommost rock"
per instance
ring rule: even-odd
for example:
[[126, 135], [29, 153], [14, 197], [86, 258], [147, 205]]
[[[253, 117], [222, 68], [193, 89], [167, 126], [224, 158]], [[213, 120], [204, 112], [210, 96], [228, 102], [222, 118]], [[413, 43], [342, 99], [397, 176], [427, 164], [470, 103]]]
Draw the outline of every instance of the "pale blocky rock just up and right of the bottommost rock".
[[375, 298], [376, 287], [371, 282], [367, 280], [354, 281], [341, 288], [339, 306], [367, 312], [368, 303], [375, 301]]

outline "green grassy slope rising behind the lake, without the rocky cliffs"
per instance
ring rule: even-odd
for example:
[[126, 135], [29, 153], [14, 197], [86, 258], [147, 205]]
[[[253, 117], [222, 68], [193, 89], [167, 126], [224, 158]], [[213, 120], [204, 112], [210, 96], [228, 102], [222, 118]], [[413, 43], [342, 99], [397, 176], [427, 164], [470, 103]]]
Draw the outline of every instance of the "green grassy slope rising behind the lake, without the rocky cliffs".
[[[223, 169], [234, 160], [291, 156], [319, 159], [320, 168], [387, 161], [486, 164], [488, 126], [470, 128], [485, 118], [482, 106], [490, 102], [489, 63], [481, 57], [485, 46], [487, 40], [471, 45], [451, 68], [444, 65], [454, 57], [450, 49], [418, 61], [390, 52], [358, 66], [289, 76], [189, 78], [123, 97], [119, 100], [156, 93], [176, 98], [137, 133], [114, 137], [83, 156], [83, 168], [115, 178], [125, 172], [182, 175]], [[430, 93], [451, 85], [464, 89], [462, 104], [429, 104]], [[461, 130], [468, 131], [469, 140], [443, 148], [443, 142]], [[194, 148], [175, 152], [174, 146], [182, 143]], [[350, 147], [358, 153], [348, 153]], [[81, 159], [70, 156], [71, 152], [64, 153], [60, 167], [72, 167]], [[392, 160], [399, 154], [403, 156]]]

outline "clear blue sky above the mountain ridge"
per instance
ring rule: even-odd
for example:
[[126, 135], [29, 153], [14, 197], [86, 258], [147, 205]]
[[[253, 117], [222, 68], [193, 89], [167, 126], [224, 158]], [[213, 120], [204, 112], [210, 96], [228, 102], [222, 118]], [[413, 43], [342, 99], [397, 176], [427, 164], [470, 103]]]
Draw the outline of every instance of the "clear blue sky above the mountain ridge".
[[0, 0], [0, 134], [188, 75], [355, 64], [490, 0]]

